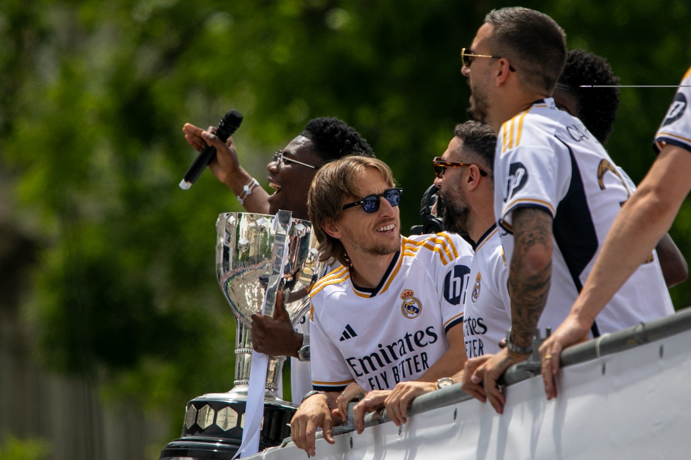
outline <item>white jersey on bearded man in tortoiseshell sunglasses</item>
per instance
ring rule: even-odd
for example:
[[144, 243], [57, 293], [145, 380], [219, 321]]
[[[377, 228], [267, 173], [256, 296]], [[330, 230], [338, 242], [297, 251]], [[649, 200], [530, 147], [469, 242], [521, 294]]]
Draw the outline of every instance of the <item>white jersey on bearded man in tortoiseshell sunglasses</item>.
[[496, 225], [477, 240], [464, 300], [466, 355], [475, 358], [500, 351], [511, 327], [509, 267]]

